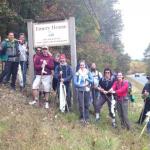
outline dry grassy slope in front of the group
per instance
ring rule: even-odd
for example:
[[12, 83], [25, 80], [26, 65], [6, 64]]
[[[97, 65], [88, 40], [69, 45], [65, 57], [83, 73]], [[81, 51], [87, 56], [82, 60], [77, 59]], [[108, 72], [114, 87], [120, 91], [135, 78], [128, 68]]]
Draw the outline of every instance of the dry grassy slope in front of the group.
[[[133, 83], [136, 102], [130, 105], [129, 118], [133, 131], [111, 127], [107, 105], [102, 109], [101, 121], [90, 115], [90, 124], [83, 127], [75, 113], [62, 114], [56, 107], [49, 110], [26, 105], [19, 92], [0, 88], [0, 150], [149, 150], [150, 137], [143, 126], [134, 122], [142, 107], [140, 90]], [[117, 118], [118, 120], [118, 118]], [[119, 122], [119, 120], [118, 120]]]

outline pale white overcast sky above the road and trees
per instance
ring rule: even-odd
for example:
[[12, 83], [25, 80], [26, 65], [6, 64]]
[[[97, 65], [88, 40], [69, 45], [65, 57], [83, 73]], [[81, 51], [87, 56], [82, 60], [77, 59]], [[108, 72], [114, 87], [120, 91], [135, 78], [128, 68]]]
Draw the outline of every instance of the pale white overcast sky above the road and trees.
[[132, 59], [142, 60], [150, 43], [150, 0], [119, 0], [124, 24], [121, 41]]

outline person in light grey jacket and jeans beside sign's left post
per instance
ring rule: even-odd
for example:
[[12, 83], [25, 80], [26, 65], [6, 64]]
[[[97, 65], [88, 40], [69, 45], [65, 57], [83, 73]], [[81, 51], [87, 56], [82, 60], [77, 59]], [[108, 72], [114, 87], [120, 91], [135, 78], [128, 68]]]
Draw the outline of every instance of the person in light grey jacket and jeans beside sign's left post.
[[20, 65], [23, 77], [23, 85], [20, 85], [20, 88], [24, 88], [26, 85], [27, 58], [28, 58], [28, 48], [27, 42], [25, 41], [24, 33], [20, 33], [19, 35], [19, 51], [20, 51]]

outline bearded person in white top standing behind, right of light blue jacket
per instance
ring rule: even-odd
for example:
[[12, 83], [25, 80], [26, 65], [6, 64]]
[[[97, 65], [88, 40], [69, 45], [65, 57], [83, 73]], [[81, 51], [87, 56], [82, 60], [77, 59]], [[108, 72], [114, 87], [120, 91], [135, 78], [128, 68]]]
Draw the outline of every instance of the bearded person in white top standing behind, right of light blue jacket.
[[91, 64], [91, 74], [93, 77], [93, 83], [91, 85], [91, 92], [92, 92], [92, 102], [93, 102], [93, 106], [94, 106], [94, 111], [96, 113], [96, 101], [100, 96], [100, 93], [97, 89], [98, 85], [99, 85], [99, 81], [102, 78], [102, 74], [101, 72], [99, 72], [96, 68], [96, 64], [93, 62]]

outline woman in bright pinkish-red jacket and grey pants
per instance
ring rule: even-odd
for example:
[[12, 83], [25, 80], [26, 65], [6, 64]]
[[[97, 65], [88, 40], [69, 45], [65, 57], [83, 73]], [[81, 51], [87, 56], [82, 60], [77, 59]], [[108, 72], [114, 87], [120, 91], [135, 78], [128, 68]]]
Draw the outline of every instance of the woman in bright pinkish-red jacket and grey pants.
[[131, 129], [128, 119], [128, 81], [124, 80], [122, 72], [118, 72], [117, 81], [114, 82], [109, 93], [116, 94], [117, 112], [121, 121], [121, 126], [127, 130]]

